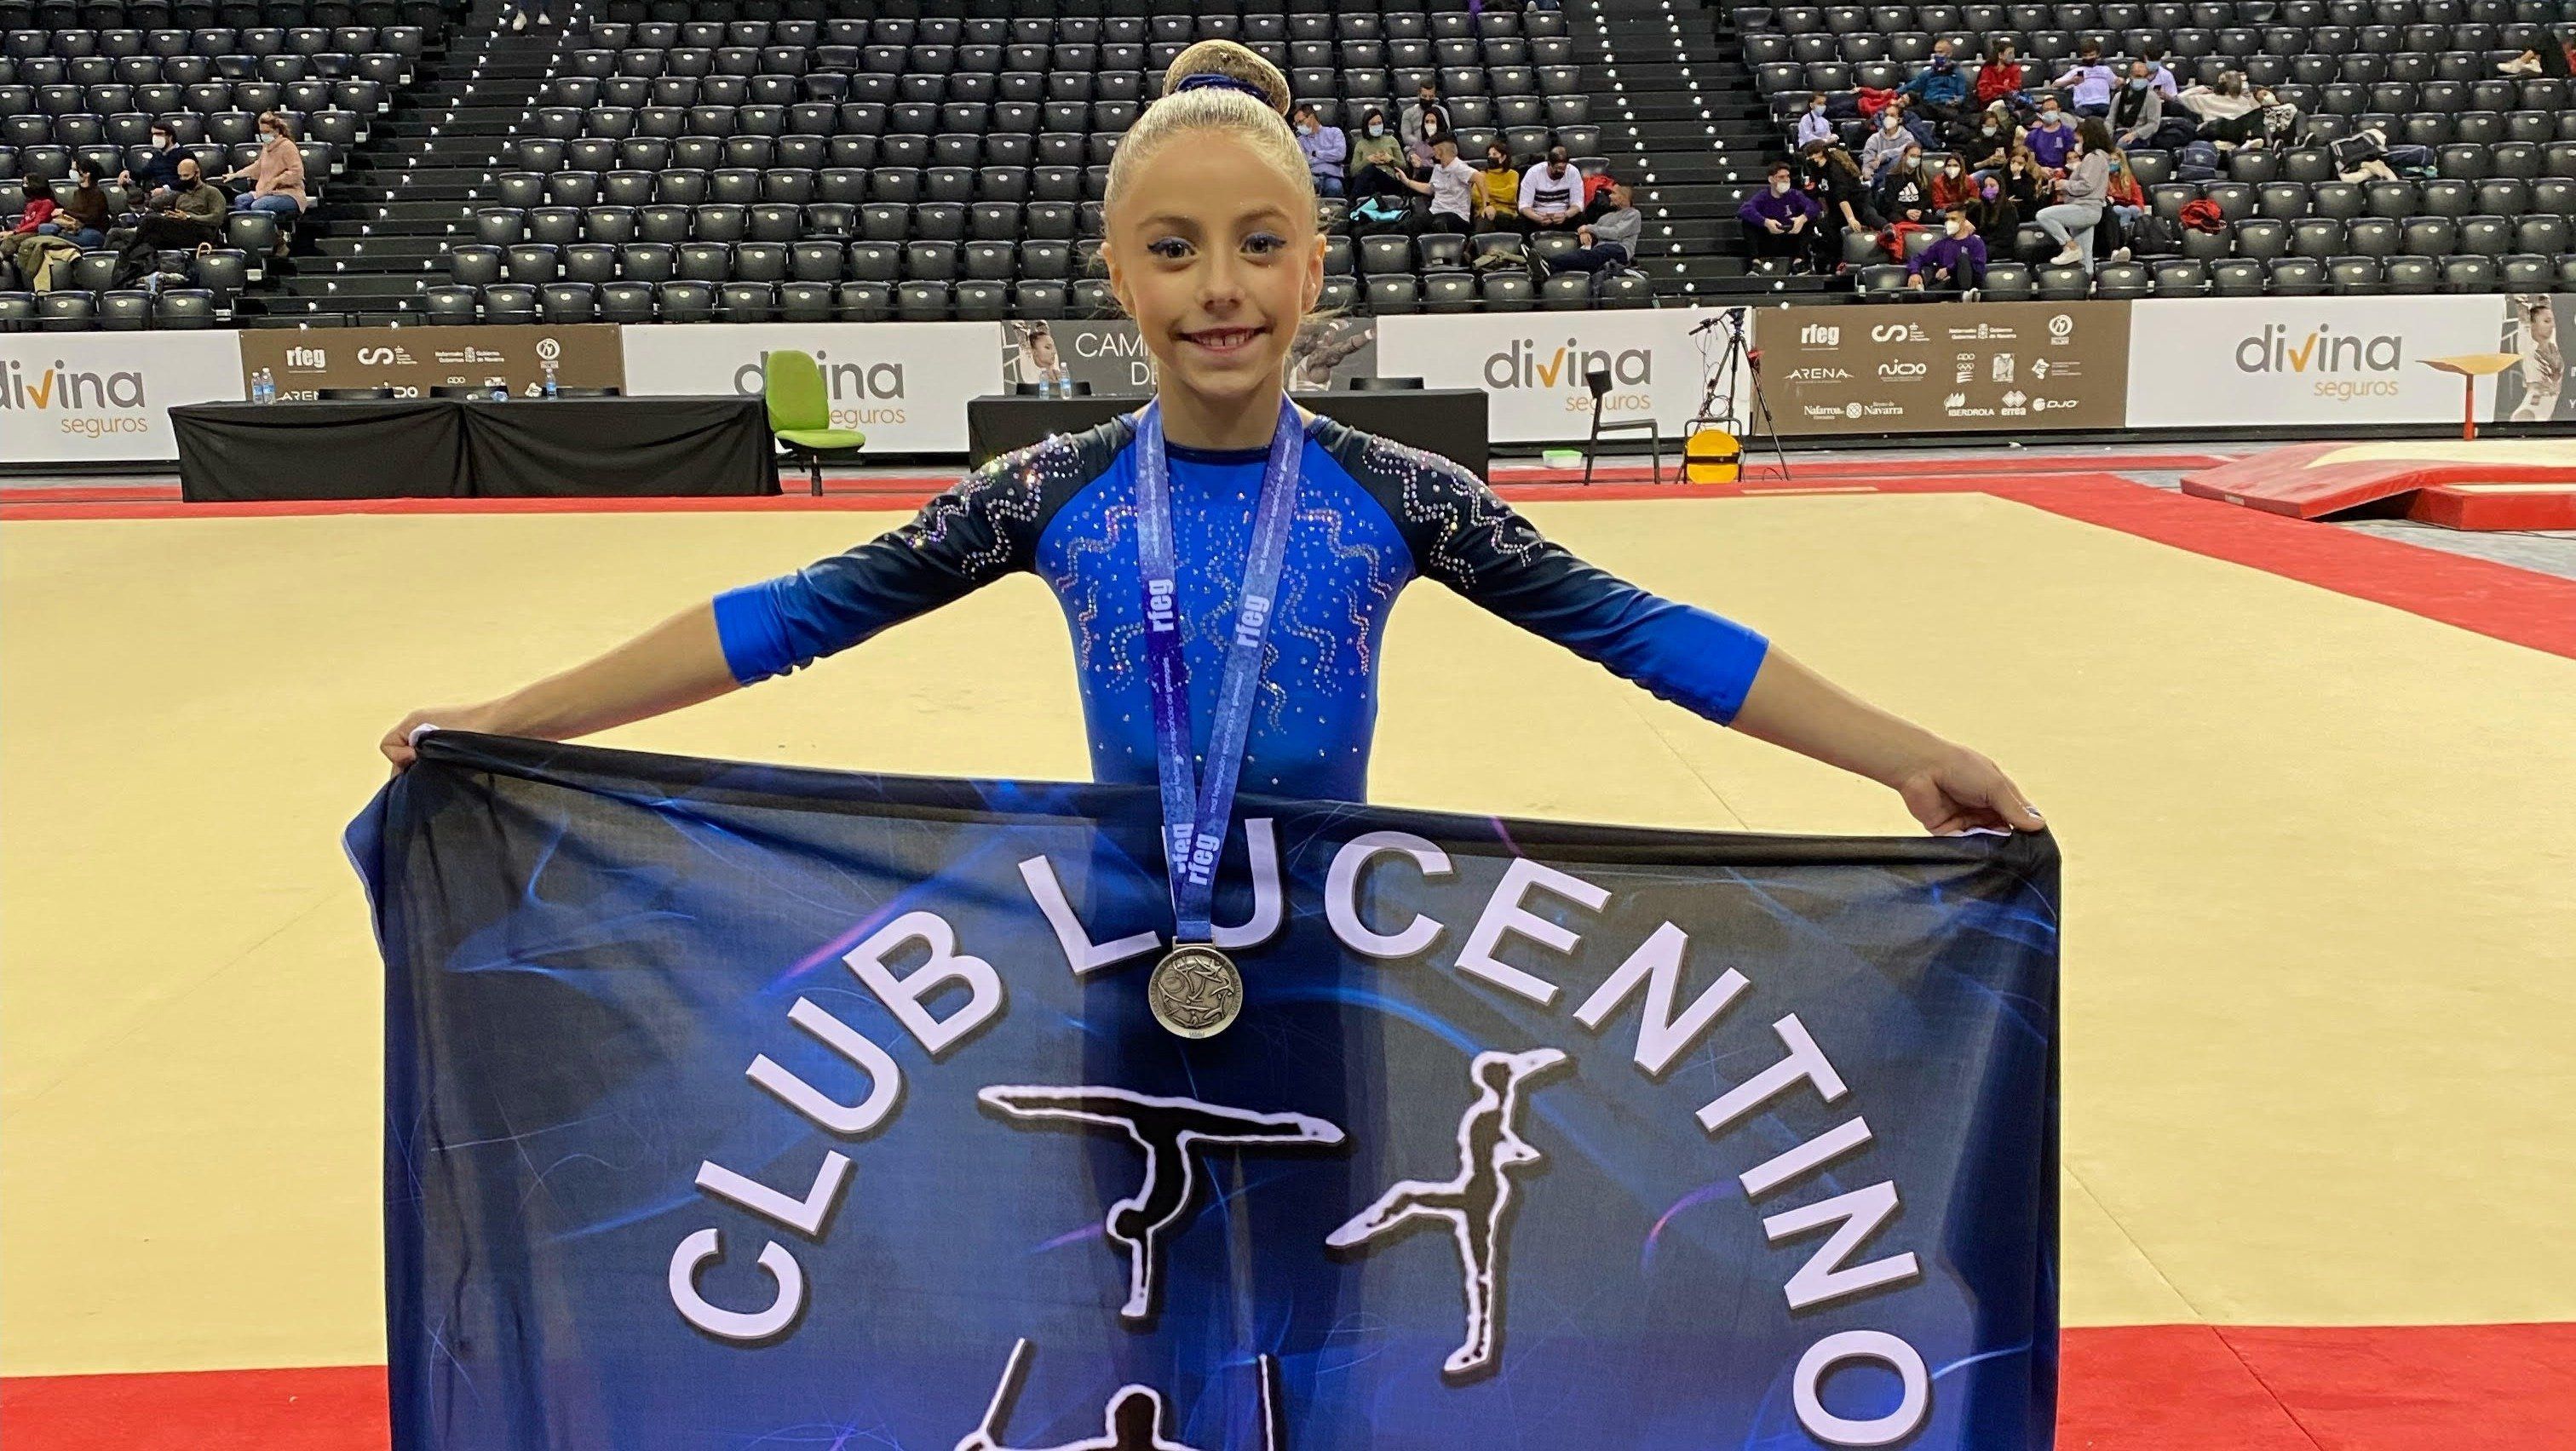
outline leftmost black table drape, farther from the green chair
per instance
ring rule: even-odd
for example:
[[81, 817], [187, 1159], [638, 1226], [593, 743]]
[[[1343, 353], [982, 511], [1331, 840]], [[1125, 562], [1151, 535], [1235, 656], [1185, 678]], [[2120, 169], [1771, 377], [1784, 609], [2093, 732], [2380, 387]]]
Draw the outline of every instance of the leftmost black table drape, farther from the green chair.
[[191, 402], [170, 410], [185, 500], [466, 497], [464, 412], [446, 399]]

